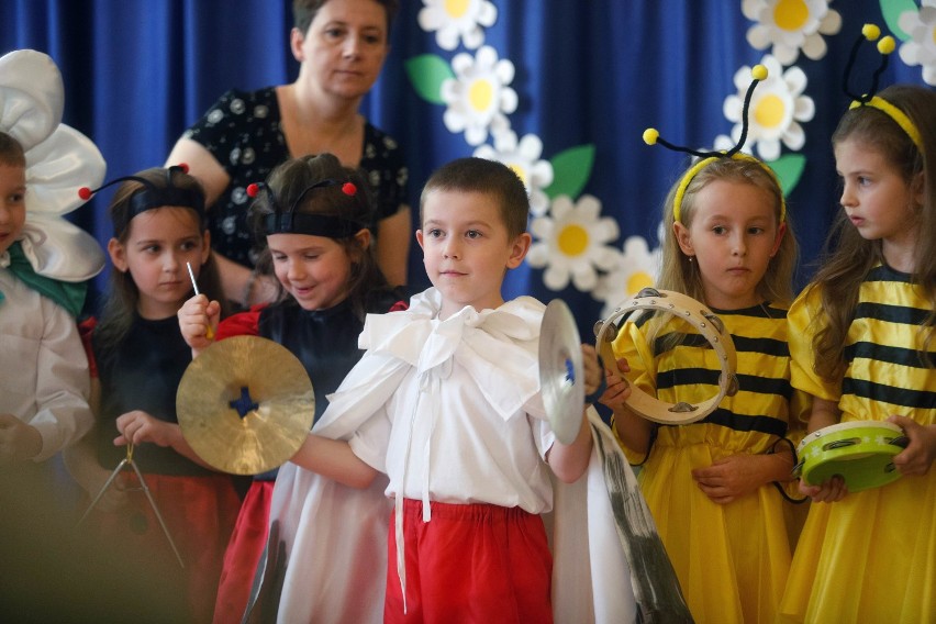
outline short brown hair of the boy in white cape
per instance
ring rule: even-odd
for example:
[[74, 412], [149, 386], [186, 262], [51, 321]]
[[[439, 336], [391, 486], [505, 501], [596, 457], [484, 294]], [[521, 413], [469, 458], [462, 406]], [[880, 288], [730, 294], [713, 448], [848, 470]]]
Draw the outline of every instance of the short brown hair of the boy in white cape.
[[503, 163], [471, 157], [458, 158], [439, 167], [430, 177], [420, 197], [421, 226], [423, 205], [433, 191], [487, 194], [498, 203], [511, 239], [526, 232], [530, 197], [523, 180]]

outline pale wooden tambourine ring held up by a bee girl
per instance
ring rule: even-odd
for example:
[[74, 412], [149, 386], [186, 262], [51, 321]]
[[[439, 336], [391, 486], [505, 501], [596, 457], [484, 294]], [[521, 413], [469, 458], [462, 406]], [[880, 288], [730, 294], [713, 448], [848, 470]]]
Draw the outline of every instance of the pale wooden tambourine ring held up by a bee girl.
[[683, 319], [704, 337], [718, 356], [722, 372], [718, 376], [718, 392], [711, 399], [692, 405], [680, 401], [666, 403], [633, 386], [631, 395], [625, 403], [635, 413], [647, 420], [668, 424], [683, 425], [701, 421], [718, 406], [725, 397], [734, 397], [738, 391], [738, 380], [735, 375], [737, 356], [735, 344], [725, 325], [711, 310], [689, 296], [670, 290], [645, 288], [635, 297], [621, 303], [611, 315], [594, 324], [595, 348], [605, 364], [616, 360], [612, 343], [620, 327], [616, 321], [637, 310], [658, 310]]

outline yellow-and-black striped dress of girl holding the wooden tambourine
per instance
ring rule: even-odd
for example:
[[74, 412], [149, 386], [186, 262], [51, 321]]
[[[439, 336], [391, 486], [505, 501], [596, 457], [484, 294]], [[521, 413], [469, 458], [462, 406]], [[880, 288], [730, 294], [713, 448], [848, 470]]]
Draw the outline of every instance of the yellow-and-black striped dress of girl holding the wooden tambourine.
[[[717, 504], [691, 472], [728, 456], [767, 453], [791, 421], [802, 430], [803, 395], [790, 386], [784, 309], [713, 312], [732, 335], [740, 389], [703, 421], [657, 428], [639, 481], [695, 621], [772, 622], [790, 565], [792, 505], [771, 484]], [[717, 393], [717, 355], [677, 316], [626, 324], [614, 350], [627, 358], [632, 383], [661, 401], [698, 404]], [[643, 459], [625, 452], [633, 463]]]

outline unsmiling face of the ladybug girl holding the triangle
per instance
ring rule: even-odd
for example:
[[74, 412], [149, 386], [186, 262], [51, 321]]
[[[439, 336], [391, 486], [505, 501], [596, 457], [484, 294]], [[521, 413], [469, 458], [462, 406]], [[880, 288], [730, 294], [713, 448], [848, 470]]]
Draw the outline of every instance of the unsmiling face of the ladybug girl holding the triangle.
[[198, 275], [211, 247], [193, 210], [166, 207], [134, 216], [126, 242], [111, 238], [108, 252], [114, 268], [133, 277], [140, 290], [140, 315], [158, 320], [176, 314], [191, 296], [186, 263]]

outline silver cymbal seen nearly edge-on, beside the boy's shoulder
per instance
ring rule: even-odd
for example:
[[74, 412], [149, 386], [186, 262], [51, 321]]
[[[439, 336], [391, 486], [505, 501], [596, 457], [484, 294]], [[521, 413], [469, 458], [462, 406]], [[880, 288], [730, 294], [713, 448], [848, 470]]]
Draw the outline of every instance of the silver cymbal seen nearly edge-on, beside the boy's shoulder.
[[576, 319], [561, 299], [546, 305], [539, 325], [539, 388], [556, 439], [571, 444], [582, 424], [584, 368]]

